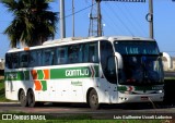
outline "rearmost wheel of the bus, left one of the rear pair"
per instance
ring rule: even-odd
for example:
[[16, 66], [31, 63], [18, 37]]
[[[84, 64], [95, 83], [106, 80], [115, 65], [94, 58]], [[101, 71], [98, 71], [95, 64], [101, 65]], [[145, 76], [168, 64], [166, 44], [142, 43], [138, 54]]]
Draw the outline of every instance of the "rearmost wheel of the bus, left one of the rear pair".
[[25, 93], [23, 89], [20, 91], [19, 101], [22, 107], [27, 107], [27, 97], [25, 96]]

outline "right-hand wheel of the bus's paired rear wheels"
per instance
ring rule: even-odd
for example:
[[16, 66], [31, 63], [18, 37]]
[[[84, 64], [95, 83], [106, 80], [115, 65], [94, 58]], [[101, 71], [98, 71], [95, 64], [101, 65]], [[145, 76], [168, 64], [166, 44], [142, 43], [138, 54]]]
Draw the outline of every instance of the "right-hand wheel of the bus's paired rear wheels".
[[28, 90], [27, 93], [27, 98], [28, 98], [28, 107], [35, 107], [35, 95], [32, 89]]

